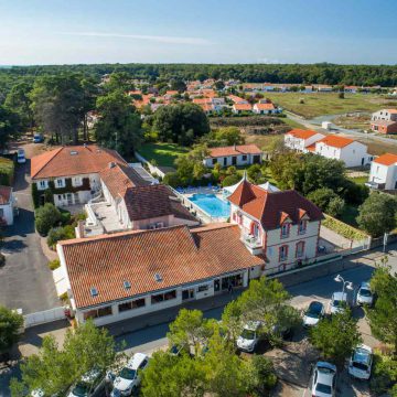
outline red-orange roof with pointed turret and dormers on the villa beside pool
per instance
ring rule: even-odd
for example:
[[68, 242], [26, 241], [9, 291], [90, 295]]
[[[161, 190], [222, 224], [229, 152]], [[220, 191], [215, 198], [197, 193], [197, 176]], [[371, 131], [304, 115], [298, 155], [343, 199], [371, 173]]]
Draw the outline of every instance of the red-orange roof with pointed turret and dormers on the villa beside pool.
[[258, 191], [255, 190], [258, 186], [244, 181], [242, 190], [244, 189], [245, 193], [237, 192], [242, 184], [228, 200], [238, 205], [245, 213], [258, 219], [266, 230], [280, 227], [287, 217], [292, 223], [298, 223], [302, 217], [302, 213], [307, 214], [310, 221], [320, 221], [323, 217], [321, 210], [297, 191]]

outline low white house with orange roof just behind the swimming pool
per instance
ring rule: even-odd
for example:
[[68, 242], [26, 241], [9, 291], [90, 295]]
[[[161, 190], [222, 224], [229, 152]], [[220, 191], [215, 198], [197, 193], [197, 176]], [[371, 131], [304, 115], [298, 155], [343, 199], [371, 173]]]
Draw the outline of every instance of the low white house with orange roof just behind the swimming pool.
[[205, 167], [249, 165], [261, 163], [264, 152], [256, 144], [235, 144], [232, 147], [211, 148], [210, 154], [203, 160]]

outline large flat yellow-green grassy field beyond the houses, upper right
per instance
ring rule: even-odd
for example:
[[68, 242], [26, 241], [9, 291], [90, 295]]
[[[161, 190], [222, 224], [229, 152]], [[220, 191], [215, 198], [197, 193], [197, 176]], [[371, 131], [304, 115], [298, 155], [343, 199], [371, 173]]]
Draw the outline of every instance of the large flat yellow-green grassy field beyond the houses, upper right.
[[[339, 98], [336, 93], [266, 93], [265, 96], [282, 108], [308, 119], [358, 110], [373, 112], [383, 107], [397, 106], [397, 98], [388, 99], [375, 94], [345, 94], [344, 99]], [[301, 99], [303, 104], [300, 104]]]

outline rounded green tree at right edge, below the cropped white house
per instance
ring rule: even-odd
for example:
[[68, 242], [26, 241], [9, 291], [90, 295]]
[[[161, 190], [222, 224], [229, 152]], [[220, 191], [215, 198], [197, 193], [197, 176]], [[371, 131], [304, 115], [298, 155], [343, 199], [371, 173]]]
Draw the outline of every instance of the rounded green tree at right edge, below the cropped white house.
[[357, 224], [374, 237], [396, 227], [396, 198], [389, 194], [373, 192], [358, 207]]

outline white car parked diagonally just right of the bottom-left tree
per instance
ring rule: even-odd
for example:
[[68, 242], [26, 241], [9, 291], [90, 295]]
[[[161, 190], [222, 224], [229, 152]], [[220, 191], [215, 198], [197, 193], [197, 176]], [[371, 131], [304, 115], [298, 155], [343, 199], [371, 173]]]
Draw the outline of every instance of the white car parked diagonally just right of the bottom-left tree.
[[130, 396], [140, 385], [140, 372], [147, 367], [148, 363], [149, 356], [143, 353], [136, 353], [116, 376], [110, 396]]

